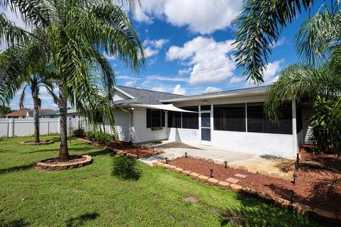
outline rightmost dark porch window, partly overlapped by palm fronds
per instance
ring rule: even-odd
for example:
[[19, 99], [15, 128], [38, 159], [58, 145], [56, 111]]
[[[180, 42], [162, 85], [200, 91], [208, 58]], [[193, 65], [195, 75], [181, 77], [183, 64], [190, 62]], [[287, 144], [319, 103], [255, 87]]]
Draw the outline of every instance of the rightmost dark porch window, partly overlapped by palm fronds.
[[291, 103], [281, 107], [279, 125], [264, 114], [264, 103], [247, 104], [247, 131], [254, 133], [292, 134]]

